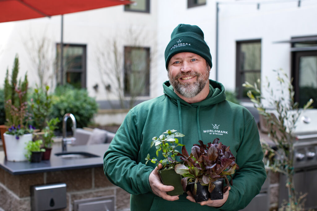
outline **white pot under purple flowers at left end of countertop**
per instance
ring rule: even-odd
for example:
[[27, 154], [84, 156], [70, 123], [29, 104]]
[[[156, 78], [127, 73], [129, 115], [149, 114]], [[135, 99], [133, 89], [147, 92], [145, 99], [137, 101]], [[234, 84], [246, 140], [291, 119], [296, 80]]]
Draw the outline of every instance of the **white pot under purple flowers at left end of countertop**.
[[26, 161], [27, 158], [24, 156], [27, 153], [25, 149], [26, 143], [32, 140], [32, 133], [24, 134], [16, 139], [15, 135], [9, 135], [4, 133], [4, 141], [7, 151], [8, 161]]

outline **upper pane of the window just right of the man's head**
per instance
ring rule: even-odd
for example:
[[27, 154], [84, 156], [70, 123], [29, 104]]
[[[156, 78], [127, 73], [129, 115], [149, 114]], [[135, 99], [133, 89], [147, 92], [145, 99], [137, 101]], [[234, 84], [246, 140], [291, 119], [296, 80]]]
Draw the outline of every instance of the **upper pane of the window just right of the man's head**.
[[261, 43], [242, 43], [240, 48], [240, 69], [260, 70], [261, 69]]

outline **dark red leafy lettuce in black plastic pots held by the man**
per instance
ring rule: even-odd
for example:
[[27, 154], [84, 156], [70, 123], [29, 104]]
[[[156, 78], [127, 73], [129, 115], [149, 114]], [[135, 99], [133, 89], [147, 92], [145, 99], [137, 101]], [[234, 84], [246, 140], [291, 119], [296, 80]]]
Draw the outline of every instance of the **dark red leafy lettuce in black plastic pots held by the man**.
[[[190, 190], [196, 202], [223, 199], [223, 192], [229, 187], [227, 175], [235, 173], [238, 165], [229, 147], [219, 143], [216, 138], [212, 143], [204, 145], [199, 140], [194, 144], [189, 155], [186, 148], [182, 147], [181, 160], [184, 164], [175, 166], [176, 173], [183, 176], [181, 183], [184, 191]], [[223, 180], [226, 186], [223, 188]], [[232, 184], [232, 180], [230, 180]]]

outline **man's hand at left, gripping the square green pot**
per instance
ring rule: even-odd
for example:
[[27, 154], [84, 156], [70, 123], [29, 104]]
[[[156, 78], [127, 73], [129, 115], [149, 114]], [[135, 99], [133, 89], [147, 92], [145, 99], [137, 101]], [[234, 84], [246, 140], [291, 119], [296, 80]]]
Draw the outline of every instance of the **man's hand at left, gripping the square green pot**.
[[151, 172], [149, 176], [150, 186], [155, 195], [162, 197], [167, 201], [175, 201], [178, 200], [178, 195], [167, 195], [167, 191], [174, 190], [174, 187], [171, 185], [163, 185], [161, 182], [158, 170], [162, 168], [162, 164], [159, 164], [155, 169]]

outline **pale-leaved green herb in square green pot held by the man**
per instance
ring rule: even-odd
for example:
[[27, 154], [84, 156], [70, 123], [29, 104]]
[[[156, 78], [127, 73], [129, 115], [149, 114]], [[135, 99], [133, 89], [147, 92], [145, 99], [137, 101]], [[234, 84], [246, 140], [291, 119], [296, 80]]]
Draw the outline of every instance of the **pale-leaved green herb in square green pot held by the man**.
[[[165, 135], [166, 134], [166, 135]], [[174, 190], [167, 192], [168, 195], [180, 195], [183, 194], [183, 188], [181, 186], [181, 176], [176, 174], [174, 168], [179, 162], [176, 161], [176, 156], [179, 153], [175, 149], [177, 146], [184, 146], [178, 143], [176, 137], [183, 137], [184, 134], [176, 132], [176, 130], [167, 130], [158, 137], [153, 137], [151, 147], [155, 146], [156, 156], [159, 157], [159, 152], [162, 152], [164, 159], [159, 160], [157, 158], [150, 158], [150, 154], [145, 158], [146, 164], [150, 160], [152, 163], [160, 163], [163, 168], [160, 169], [159, 175], [163, 184], [174, 186]]]

